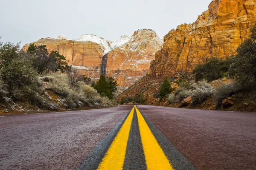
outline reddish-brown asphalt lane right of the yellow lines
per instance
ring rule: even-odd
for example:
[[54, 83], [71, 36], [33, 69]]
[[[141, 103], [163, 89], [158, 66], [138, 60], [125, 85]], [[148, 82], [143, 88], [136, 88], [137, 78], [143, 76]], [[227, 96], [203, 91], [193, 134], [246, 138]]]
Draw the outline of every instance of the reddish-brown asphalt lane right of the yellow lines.
[[138, 105], [198, 170], [256, 170], [256, 113]]

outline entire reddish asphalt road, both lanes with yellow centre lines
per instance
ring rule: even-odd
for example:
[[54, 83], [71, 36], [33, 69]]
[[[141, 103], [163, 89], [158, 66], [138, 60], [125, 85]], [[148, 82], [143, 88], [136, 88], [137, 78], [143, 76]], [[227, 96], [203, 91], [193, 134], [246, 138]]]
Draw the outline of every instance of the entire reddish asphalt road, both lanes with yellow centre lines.
[[0, 169], [256, 169], [256, 113], [132, 108], [0, 116]]

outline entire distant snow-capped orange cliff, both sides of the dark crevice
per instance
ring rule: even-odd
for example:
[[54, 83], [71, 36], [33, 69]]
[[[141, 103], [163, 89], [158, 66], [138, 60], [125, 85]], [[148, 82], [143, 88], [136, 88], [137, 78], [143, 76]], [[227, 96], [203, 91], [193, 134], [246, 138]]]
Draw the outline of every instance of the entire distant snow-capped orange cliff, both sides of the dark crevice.
[[[58, 51], [66, 57], [69, 65], [78, 68], [87, 77], [97, 79], [103, 73], [126, 87], [147, 74], [155, 53], [163, 47], [163, 41], [151, 29], [135, 31], [131, 38], [122, 36], [116, 42], [93, 34], [83, 34], [77, 40], [60, 35], [33, 43], [47, 45], [49, 52]], [[24, 45], [23, 50], [28, 46]]]

